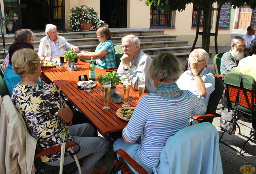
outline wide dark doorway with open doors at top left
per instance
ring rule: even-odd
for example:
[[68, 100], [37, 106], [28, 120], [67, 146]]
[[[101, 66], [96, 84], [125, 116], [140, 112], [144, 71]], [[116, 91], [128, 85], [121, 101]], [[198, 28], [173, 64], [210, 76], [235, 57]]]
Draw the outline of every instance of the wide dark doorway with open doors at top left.
[[17, 19], [11, 32], [22, 28], [45, 31], [47, 23], [56, 25], [58, 31], [66, 32], [64, 0], [4, 0], [5, 12], [13, 8], [14, 2]]

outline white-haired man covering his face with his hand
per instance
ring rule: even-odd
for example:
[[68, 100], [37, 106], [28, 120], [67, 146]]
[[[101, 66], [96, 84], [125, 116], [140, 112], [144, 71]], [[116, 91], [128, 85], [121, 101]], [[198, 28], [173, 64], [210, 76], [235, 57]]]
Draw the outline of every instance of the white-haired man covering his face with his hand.
[[188, 58], [188, 70], [177, 80], [181, 90], [189, 90], [208, 105], [210, 94], [215, 90], [214, 75], [206, 69], [209, 54], [204, 49], [194, 49]]

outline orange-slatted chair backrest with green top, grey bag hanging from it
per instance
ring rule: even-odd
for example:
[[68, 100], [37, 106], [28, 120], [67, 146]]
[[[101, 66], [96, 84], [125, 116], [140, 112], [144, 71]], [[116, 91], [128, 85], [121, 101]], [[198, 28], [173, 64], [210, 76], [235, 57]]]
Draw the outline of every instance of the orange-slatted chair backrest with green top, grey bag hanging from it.
[[[239, 73], [230, 71], [225, 75], [226, 94], [230, 107], [234, 107], [239, 87]], [[243, 74], [239, 89], [238, 110], [252, 114], [255, 111], [256, 82], [249, 74]], [[256, 119], [256, 118], [255, 118]]]

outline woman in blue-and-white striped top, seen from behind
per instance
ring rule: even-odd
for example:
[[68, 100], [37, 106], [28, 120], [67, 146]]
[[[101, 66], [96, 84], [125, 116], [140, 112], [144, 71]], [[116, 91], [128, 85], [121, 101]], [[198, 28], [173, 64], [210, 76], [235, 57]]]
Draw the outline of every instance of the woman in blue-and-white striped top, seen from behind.
[[170, 53], [160, 53], [153, 59], [148, 75], [157, 89], [140, 98], [123, 129], [123, 138], [114, 143], [114, 151], [123, 149], [150, 174], [167, 139], [187, 127], [189, 115], [206, 111], [204, 102], [178, 88], [175, 81], [182, 71], [180, 61]]

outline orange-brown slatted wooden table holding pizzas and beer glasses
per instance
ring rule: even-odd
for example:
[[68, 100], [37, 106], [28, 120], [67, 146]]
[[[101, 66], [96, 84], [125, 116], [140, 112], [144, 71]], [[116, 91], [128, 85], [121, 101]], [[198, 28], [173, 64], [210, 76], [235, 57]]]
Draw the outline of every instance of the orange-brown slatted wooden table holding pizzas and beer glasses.
[[[76, 64], [77, 70], [71, 71], [62, 65], [61, 68], [41, 68], [42, 72], [56, 84], [58, 88], [68, 97], [68, 99], [80, 110], [103, 134], [121, 131], [128, 121], [120, 119], [116, 115], [118, 108], [122, 108], [122, 103], [116, 104], [109, 101], [110, 109], [102, 109], [104, 106], [103, 95], [100, 93], [101, 86], [96, 81], [97, 86], [91, 92], [84, 92], [77, 88], [78, 76], [87, 75], [89, 77], [89, 63], [80, 59]], [[98, 75], [106, 74], [106, 71], [96, 67], [96, 79]], [[116, 85], [116, 93], [123, 98], [122, 84]], [[130, 89], [128, 104], [136, 106], [138, 103], [138, 91]]]

